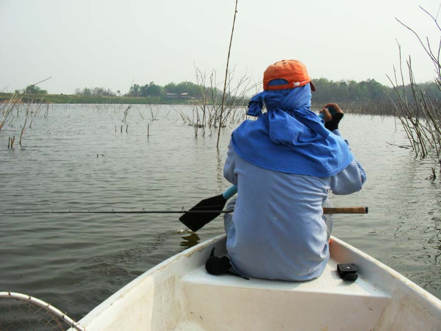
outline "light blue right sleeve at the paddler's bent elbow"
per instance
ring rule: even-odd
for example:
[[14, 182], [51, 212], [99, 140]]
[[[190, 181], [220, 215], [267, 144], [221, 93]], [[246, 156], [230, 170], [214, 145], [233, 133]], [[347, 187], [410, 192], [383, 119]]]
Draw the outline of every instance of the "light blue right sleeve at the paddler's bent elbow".
[[[341, 136], [339, 130], [334, 130], [332, 132]], [[354, 157], [346, 169], [331, 177], [330, 188], [332, 193], [336, 195], [351, 194], [360, 191], [365, 181], [365, 170], [360, 162]]]

